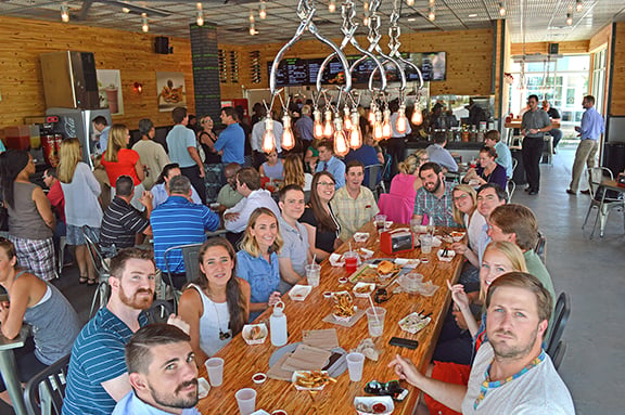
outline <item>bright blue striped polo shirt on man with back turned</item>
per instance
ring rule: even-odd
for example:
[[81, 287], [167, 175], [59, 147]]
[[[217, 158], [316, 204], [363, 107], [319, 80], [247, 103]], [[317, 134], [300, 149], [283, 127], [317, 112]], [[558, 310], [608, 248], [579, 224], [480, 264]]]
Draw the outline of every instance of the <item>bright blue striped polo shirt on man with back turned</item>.
[[[154, 234], [154, 261], [161, 271], [166, 271], [165, 250], [177, 245], [202, 244], [206, 241], [206, 231], [219, 228], [219, 217], [206, 206], [194, 205], [183, 196], [169, 196], [152, 211], [150, 223]], [[170, 272], [184, 272], [182, 251], [169, 252], [167, 263]]]

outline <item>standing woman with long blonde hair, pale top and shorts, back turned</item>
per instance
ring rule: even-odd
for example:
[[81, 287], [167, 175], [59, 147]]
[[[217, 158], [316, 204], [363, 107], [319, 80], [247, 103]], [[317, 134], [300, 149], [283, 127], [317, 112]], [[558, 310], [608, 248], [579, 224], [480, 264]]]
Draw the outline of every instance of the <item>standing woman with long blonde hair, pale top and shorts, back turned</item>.
[[[109, 141], [111, 143], [111, 141]], [[60, 161], [56, 169], [61, 189], [65, 196], [65, 222], [67, 224], [67, 245], [76, 247], [76, 262], [80, 271], [80, 284], [97, 284], [95, 269], [91, 262], [82, 226], [94, 241], [100, 239], [102, 208], [98, 197], [101, 187], [89, 166], [82, 160], [78, 139], [61, 142]]]

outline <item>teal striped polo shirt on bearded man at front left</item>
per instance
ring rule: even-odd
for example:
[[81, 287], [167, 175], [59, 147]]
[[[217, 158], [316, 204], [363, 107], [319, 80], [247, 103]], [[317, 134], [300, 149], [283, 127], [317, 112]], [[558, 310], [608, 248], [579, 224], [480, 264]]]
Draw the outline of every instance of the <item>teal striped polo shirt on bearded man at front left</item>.
[[[141, 313], [139, 325], [148, 324]], [[72, 349], [67, 387], [63, 401], [63, 415], [109, 415], [115, 400], [104, 390], [102, 382], [126, 373], [124, 348], [132, 330], [107, 308], [80, 330]]]

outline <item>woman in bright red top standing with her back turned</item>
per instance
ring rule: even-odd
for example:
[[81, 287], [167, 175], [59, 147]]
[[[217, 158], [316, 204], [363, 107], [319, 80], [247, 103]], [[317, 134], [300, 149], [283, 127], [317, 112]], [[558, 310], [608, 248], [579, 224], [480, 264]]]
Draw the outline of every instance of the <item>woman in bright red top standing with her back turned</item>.
[[141, 205], [139, 198], [141, 198], [145, 190], [141, 183], [143, 179], [145, 179], [144, 167], [141, 164], [139, 153], [127, 148], [129, 141], [130, 132], [128, 128], [123, 124], [113, 125], [109, 132], [109, 144], [106, 146], [106, 153], [104, 153], [104, 157], [102, 157], [102, 166], [104, 166], [106, 174], [109, 174], [112, 196], [114, 196], [115, 183], [117, 183], [119, 176], [130, 176], [132, 178], [135, 196], [130, 205], [142, 211], [144, 206]]

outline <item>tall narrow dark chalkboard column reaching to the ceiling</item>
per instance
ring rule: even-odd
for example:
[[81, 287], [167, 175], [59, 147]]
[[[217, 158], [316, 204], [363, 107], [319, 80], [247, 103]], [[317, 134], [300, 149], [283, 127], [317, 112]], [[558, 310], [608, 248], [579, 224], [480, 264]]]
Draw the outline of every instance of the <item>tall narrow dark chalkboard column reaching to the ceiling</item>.
[[221, 114], [221, 93], [217, 25], [204, 22], [203, 26], [197, 26], [193, 23], [190, 25], [190, 34], [195, 114], [209, 115], [214, 120], [218, 120]]

